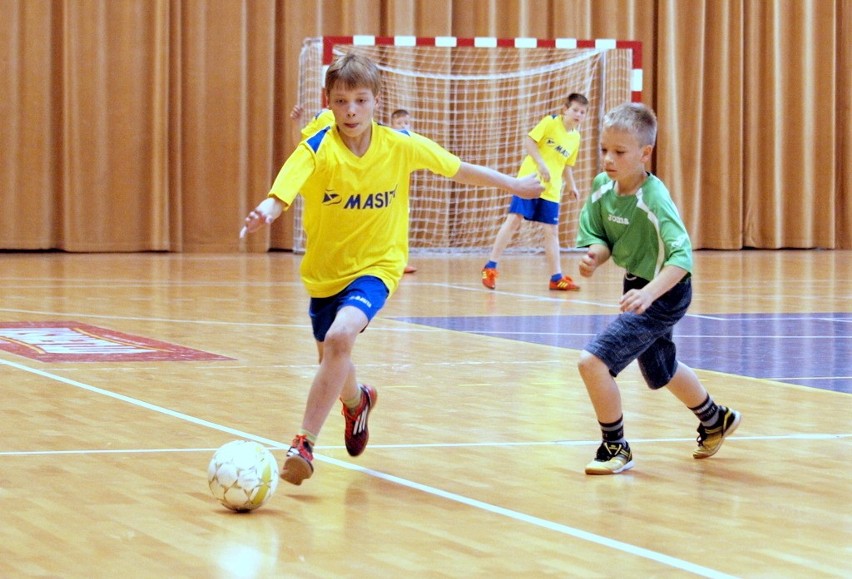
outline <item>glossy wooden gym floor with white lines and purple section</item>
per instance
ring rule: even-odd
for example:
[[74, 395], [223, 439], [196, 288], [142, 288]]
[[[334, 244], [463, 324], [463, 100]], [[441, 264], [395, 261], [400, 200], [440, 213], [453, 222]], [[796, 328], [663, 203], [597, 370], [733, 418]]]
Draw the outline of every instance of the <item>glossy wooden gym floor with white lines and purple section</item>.
[[697, 421], [632, 365], [611, 477], [583, 474], [576, 362], [618, 268], [557, 294], [513, 255], [492, 292], [484, 255], [414, 255], [356, 344], [365, 454], [335, 410], [313, 478], [233, 514], [213, 451], [280, 461], [316, 369], [299, 259], [0, 255], [0, 577], [852, 576], [852, 252], [697, 252], [676, 339], [743, 423], [693, 460]]

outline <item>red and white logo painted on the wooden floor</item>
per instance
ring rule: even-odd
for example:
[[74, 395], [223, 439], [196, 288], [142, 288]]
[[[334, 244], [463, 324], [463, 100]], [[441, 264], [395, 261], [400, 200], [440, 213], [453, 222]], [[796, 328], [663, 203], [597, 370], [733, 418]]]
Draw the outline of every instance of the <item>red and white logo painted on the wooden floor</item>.
[[233, 360], [78, 322], [0, 322], [0, 350], [41, 362]]

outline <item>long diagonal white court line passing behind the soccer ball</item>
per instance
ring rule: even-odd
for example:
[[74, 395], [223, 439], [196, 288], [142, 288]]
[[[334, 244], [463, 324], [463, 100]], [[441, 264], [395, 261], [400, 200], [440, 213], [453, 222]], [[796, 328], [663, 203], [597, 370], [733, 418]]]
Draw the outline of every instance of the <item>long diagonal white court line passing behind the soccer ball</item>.
[[[171, 416], [173, 418], [177, 418], [179, 420], [184, 420], [186, 422], [191, 422], [193, 424], [198, 424], [200, 426], [206, 426], [207, 428], [211, 428], [213, 430], [218, 430], [221, 432], [227, 432], [234, 436], [245, 438], [247, 440], [254, 440], [260, 442], [262, 444], [266, 444], [268, 446], [272, 446], [275, 448], [286, 448], [287, 445], [283, 445], [280, 442], [270, 440], [268, 438], [263, 438], [261, 436], [257, 436], [254, 434], [250, 434], [248, 432], [244, 432], [242, 430], [237, 430], [234, 428], [230, 428], [227, 426], [223, 426], [221, 424], [216, 424], [214, 422], [210, 422], [208, 420], [203, 420], [201, 418], [196, 418], [194, 416], [190, 416], [188, 414], [184, 414], [182, 412], [177, 412], [168, 408], [164, 408], [162, 406], [158, 406], [156, 404], [151, 404], [148, 402], [144, 402], [142, 400], [138, 400], [136, 398], [132, 398], [130, 396], [125, 396], [124, 394], [118, 394], [116, 392], [111, 392], [109, 390], [104, 390], [103, 388], [98, 388], [96, 386], [92, 386], [90, 384], [84, 384], [83, 382], [78, 382], [77, 380], [71, 380], [69, 378], [64, 378], [62, 376], [58, 376], [56, 374], [51, 374], [50, 372], [45, 372], [44, 370], [39, 370], [37, 368], [31, 368], [29, 366], [25, 366], [23, 364], [18, 364], [17, 362], [11, 362], [8, 360], [0, 359], [0, 365], [9, 366], [11, 368], [16, 368], [23, 372], [29, 372], [31, 374], [36, 374], [38, 376], [42, 376], [43, 378], [48, 378], [50, 380], [55, 380], [57, 382], [62, 382], [63, 384], [67, 384], [69, 386], [73, 386], [75, 388], [80, 388], [82, 390], [87, 390], [89, 392], [93, 392], [95, 394], [101, 394], [103, 396], [107, 396], [109, 398], [114, 398], [116, 400], [120, 400], [122, 402], [127, 402], [129, 404], [133, 404], [134, 406], [139, 406], [141, 408], [146, 408], [148, 410], [152, 410], [154, 412], [159, 412], [161, 414], [165, 414], [167, 416]], [[356, 472], [360, 472], [366, 474], [368, 476], [372, 476], [374, 478], [379, 478], [382, 480], [386, 480], [388, 482], [392, 482], [394, 484], [398, 484], [400, 486], [404, 486], [416, 491], [420, 491], [426, 494], [430, 494], [436, 497], [444, 498], [453, 502], [457, 502], [463, 505], [467, 505], [476, 509], [480, 509], [486, 512], [490, 512], [496, 515], [500, 515], [503, 517], [507, 517], [522, 523], [534, 525], [537, 527], [541, 527], [544, 529], [548, 529], [551, 531], [555, 531], [557, 533], [561, 533], [563, 535], [568, 535], [571, 537], [575, 537], [577, 539], [587, 541], [590, 543], [595, 543], [597, 545], [601, 545], [603, 547], [607, 547], [610, 549], [615, 549], [617, 551], [622, 551], [624, 553], [629, 553], [631, 555], [635, 555], [637, 557], [643, 557], [645, 559], [649, 559], [651, 561], [655, 561], [662, 565], [668, 565], [669, 567], [673, 567], [675, 569], [681, 569], [684, 571], [688, 571], [690, 573], [694, 573], [695, 575], [701, 577], [711, 577], [713, 579], [727, 579], [732, 577], [731, 575], [727, 575], [720, 571], [716, 571], [715, 569], [709, 569], [707, 567], [702, 567], [700, 565], [695, 565], [694, 563], [690, 563], [689, 561], [684, 561], [682, 559], [677, 559], [675, 557], [670, 557], [668, 555], [664, 555], [663, 553], [658, 553], [656, 551], [651, 551], [649, 549], [644, 549], [642, 547], [637, 547], [635, 545], [631, 545], [629, 543], [623, 543], [621, 541], [616, 541], [614, 539], [610, 539], [608, 537], [603, 537], [601, 535], [596, 535], [594, 533], [589, 533], [587, 531], [583, 531], [581, 529], [576, 529], [574, 527], [569, 527], [567, 525], [562, 525], [559, 523], [555, 523], [553, 521], [548, 521], [545, 519], [540, 519], [538, 517], [533, 517], [531, 515], [526, 515], [524, 513], [519, 513], [516, 511], [512, 511], [510, 509], [506, 509], [503, 507], [498, 507], [496, 505], [491, 505], [489, 503], [485, 503], [482, 501], [478, 501], [476, 499], [471, 499], [456, 493], [451, 493], [448, 491], [444, 491], [435, 487], [422, 485], [419, 483], [415, 483], [413, 481], [409, 481], [400, 477], [396, 477], [393, 475], [385, 474], [383, 472], [379, 472], [372, 469], [363, 468], [352, 463], [344, 462], [341, 460], [337, 460], [330, 457], [325, 457], [321, 455], [314, 455], [314, 459], [319, 460], [321, 462], [327, 462], [329, 464], [333, 464], [335, 466], [345, 468], [348, 470], [353, 470]]]

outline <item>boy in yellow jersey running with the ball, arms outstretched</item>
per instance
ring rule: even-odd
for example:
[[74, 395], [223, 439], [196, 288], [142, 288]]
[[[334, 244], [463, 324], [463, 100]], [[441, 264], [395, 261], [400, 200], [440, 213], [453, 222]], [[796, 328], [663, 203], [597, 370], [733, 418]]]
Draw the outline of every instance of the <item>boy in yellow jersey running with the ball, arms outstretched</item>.
[[402, 277], [411, 173], [428, 169], [530, 199], [544, 189], [535, 175], [510, 177], [471, 165], [423, 136], [376, 123], [381, 77], [362, 55], [335, 61], [325, 87], [334, 126], [299, 143], [240, 232], [243, 237], [272, 223], [297, 194], [304, 198], [307, 244], [300, 273], [320, 362], [281, 470], [281, 478], [297, 485], [313, 474], [313, 446], [336, 400], [343, 404], [346, 450], [358, 456], [367, 445], [377, 393], [357, 381], [352, 349]]

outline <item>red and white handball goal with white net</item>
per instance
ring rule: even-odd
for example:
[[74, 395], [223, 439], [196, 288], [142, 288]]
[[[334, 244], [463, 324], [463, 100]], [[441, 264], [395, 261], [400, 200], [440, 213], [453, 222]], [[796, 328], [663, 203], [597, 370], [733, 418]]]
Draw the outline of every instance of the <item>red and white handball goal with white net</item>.
[[[309, 120], [324, 106], [325, 70], [337, 56], [358, 51], [382, 71], [376, 120], [411, 114], [411, 130], [463, 161], [516, 175], [524, 138], [548, 114], [559, 114], [572, 92], [589, 99], [573, 167], [581, 199], [564, 194], [559, 241], [574, 247], [577, 218], [598, 172], [600, 124], [605, 111], [641, 97], [638, 42], [455, 37], [308, 38], [299, 60], [299, 104]], [[410, 247], [428, 252], [487, 252], [506, 218], [507, 191], [462, 185], [417, 171], [411, 176]], [[304, 251], [301, 198], [297, 197], [294, 250]], [[524, 222], [507, 253], [538, 252], [543, 233]]]

